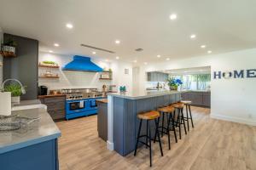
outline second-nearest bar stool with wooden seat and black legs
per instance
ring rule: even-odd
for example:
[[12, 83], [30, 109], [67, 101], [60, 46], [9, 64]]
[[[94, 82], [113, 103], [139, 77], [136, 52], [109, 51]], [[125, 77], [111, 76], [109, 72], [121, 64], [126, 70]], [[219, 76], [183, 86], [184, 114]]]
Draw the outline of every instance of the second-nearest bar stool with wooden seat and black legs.
[[[172, 106], [164, 106], [164, 107], [160, 107], [157, 111], [159, 111], [160, 116], [162, 116], [162, 125], [159, 126], [158, 128], [161, 129], [160, 133], [162, 137], [164, 133], [168, 135], [168, 146], [169, 146], [169, 150], [171, 150], [170, 131], [174, 132], [175, 141], [177, 143], [177, 135], [176, 135], [176, 130], [174, 126], [175, 123], [173, 119], [173, 113], [175, 109]], [[165, 116], [167, 120], [166, 126], [165, 126]], [[160, 117], [158, 118], [158, 122], [160, 122]], [[170, 125], [172, 125], [172, 129], [170, 129]], [[156, 134], [154, 134], [154, 142], [155, 141], [156, 141]]]

